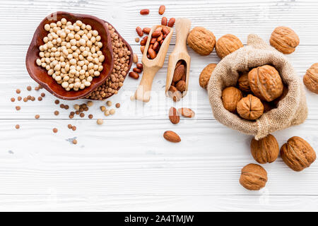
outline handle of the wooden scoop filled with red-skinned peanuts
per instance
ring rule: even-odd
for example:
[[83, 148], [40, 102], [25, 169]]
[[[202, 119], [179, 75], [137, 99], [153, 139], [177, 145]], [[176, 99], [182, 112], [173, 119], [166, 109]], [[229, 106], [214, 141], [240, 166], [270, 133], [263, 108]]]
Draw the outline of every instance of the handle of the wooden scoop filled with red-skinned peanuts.
[[153, 78], [160, 68], [143, 68], [143, 77], [135, 93], [135, 99], [143, 102], [149, 102], [151, 99], [151, 86], [153, 85]]

